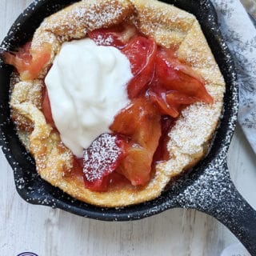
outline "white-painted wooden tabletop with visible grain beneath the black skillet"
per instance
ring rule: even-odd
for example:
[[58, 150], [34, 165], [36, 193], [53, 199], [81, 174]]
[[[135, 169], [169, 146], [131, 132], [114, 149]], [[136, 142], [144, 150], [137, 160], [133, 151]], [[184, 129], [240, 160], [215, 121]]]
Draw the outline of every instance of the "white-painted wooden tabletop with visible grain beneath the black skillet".
[[[31, 0], [0, 0], [0, 40]], [[230, 146], [231, 177], [256, 208], [256, 158], [240, 127]], [[32, 251], [48, 255], [217, 256], [237, 238], [195, 210], [167, 210], [136, 222], [99, 222], [62, 210], [30, 205], [15, 190], [12, 170], [0, 153], [0, 255]]]

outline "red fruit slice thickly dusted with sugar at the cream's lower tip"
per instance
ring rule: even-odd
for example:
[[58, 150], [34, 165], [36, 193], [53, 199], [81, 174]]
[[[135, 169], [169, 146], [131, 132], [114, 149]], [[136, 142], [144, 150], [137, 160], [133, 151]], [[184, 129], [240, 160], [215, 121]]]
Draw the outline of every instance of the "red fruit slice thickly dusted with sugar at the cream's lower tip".
[[120, 135], [102, 134], [84, 150], [83, 174], [86, 188], [101, 190], [106, 177], [119, 166], [126, 157], [126, 142]]

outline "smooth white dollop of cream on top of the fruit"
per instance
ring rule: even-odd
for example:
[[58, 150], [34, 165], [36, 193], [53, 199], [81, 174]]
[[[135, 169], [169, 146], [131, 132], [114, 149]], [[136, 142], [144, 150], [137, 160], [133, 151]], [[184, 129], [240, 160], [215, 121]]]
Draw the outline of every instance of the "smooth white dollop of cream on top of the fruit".
[[113, 46], [90, 38], [62, 44], [45, 82], [55, 126], [78, 158], [128, 105], [131, 78], [128, 58]]

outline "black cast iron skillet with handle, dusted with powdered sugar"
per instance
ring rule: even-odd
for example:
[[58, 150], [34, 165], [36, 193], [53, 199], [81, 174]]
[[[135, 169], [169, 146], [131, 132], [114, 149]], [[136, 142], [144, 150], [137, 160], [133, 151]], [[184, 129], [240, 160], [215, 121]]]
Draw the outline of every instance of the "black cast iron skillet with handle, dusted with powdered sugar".
[[[2, 47], [14, 50], [27, 42], [42, 19], [70, 4], [71, 0], [39, 0], [21, 14]], [[128, 221], [149, 217], [174, 207], [193, 208], [210, 214], [226, 225], [252, 255], [256, 255], [256, 212], [242, 198], [230, 180], [226, 165], [226, 152], [234, 133], [238, 112], [238, 82], [234, 63], [219, 30], [217, 16], [209, 0], [166, 1], [198, 18], [202, 30], [226, 80], [225, 104], [222, 120], [214, 136], [209, 154], [190, 174], [174, 182], [168, 190], [153, 201], [121, 209], [91, 206], [64, 194], [62, 190], [43, 181], [35, 170], [31, 158], [15, 134], [10, 121], [9, 84], [12, 68], [0, 68], [0, 142], [10, 166], [18, 194], [27, 202], [57, 207], [87, 218], [104, 221]]]

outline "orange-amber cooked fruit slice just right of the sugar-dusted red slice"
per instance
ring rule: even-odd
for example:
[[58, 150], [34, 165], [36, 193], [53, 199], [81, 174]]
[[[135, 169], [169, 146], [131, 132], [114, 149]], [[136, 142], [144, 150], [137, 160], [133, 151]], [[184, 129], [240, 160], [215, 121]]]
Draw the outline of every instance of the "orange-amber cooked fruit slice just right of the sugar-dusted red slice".
[[133, 186], [150, 180], [151, 163], [161, 136], [160, 116], [146, 98], [134, 99], [115, 118], [110, 130], [129, 138], [126, 158], [118, 166]]

